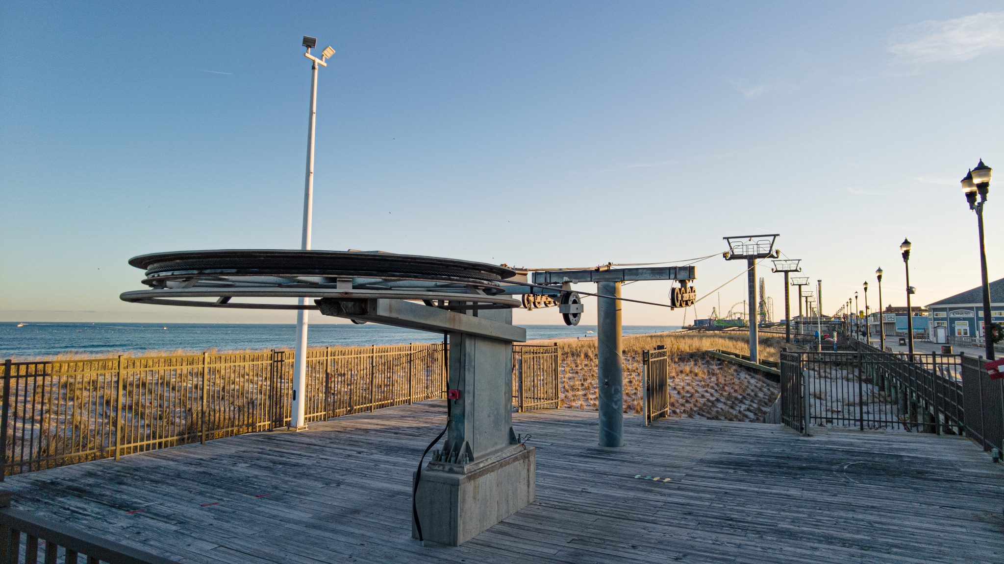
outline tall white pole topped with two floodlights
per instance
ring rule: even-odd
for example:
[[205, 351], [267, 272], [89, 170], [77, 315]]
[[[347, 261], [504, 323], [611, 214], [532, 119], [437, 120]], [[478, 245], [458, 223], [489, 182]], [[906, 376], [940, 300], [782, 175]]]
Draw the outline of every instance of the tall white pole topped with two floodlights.
[[[310, 78], [310, 118], [307, 121], [307, 173], [303, 188], [303, 237], [300, 248], [310, 250], [310, 216], [313, 209], [313, 139], [314, 121], [317, 116], [317, 65], [327, 66], [324, 62], [334, 54], [330, 45], [321, 51], [321, 56], [310, 54], [310, 49], [317, 46], [316, 37], [303, 36], [303, 46], [307, 52], [303, 56], [313, 61]], [[300, 309], [296, 310], [296, 352], [293, 356], [293, 404], [290, 409], [289, 429], [301, 431], [306, 429], [304, 420], [306, 406], [307, 382], [307, 310], [303, 309], [305, 298], [299, 298]]]

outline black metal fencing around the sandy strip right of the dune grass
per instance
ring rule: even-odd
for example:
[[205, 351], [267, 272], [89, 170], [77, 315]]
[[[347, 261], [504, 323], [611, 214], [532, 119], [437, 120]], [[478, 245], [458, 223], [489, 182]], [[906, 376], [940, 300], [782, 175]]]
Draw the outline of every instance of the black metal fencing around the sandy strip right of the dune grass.
[[1004, 384], [964, 354], [855, 350], [781, 353], [781, 418], [812, 426], [966, 435], [1004, 451]]

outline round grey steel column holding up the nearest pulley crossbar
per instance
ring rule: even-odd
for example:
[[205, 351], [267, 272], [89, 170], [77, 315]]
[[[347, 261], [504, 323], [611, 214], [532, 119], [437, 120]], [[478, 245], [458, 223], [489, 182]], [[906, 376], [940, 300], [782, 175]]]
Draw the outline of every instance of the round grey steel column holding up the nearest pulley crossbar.
[[[596, 341], [599, 446], [623, 446], [623, 358], [620, 340], [620, 282], [598, 282]], [[608, 297], [607, 297], [608, 296]]]

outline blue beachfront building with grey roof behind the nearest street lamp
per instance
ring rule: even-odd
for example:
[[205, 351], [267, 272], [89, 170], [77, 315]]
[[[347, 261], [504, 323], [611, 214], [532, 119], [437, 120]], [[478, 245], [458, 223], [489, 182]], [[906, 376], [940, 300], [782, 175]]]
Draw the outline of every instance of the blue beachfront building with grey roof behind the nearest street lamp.
[[[928, 304], [932, 326], [931, 339], [958, 345], [983, 344], [983, 287]], [[990, 315], [992, 321], [1004, 322], [1004, 278], [990, 283]], [[944, 327], [944, 329], [941, 329]]]

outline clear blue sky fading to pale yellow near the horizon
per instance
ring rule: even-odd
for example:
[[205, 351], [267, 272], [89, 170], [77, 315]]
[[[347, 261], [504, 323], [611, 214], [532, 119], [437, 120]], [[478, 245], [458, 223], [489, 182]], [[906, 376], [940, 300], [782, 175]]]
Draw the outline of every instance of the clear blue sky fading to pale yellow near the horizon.
[[[979, 158], [1004, 171], [1004, 2], [4, 2], [0, 320], [291, 322], [117, 296], [140, 287], [134, 255], [299, 245], [302, 35], [337, 51], [315, 249], [565, 267], [777, 232], [832, 312], [877, 266], [904, 303], [906, 236], [915, 303], [979, 284], [958, 181]], [[699, 295], [742, 268], [703, 261]], [[724, 309], [744, 295], [723, 288]]]

